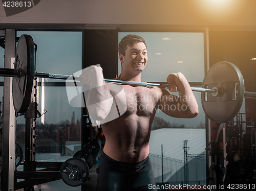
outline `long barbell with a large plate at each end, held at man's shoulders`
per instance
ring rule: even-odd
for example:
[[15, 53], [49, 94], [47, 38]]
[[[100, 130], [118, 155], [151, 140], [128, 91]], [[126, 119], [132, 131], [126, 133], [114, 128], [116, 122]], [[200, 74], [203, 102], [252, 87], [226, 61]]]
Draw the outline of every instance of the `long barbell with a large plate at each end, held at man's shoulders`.
[[[20, 36], [17, 44], [14, 68], [0, 68], [0, 76], [13, 77], [13, 105], [17, 113], [25, 113], [29, 107], [33, 80], [37, 78], [70, 79], [70, 75], [38, 73], [35, 71], [35, 48], [30, 35]], [[73, 79], [78, 76], [73, 76]], [[105, 82], [132, 86], [163, 87], [168, 84], [104, 79]], [[205, 75], [202, 88], [191, 87], [201, 93], [206, 116], [215, 123], [225, 123], [239, 112], [243, 98], [256, 98], [255, 92], [244, 91], [244, 79], [239, 68], [230, 62], [218, 62]]]

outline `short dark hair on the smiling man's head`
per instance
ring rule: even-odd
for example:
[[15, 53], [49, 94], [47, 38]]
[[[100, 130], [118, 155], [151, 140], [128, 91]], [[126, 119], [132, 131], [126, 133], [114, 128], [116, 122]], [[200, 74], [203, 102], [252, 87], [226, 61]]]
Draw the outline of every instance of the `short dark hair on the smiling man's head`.
[[127, 35], [122, 38], [122, 40], [118, 44], [118, 52], [119, 54], [125, 56], [125, 51], [127, 49], [127, 45], [132, 47], [134, 44], [143, 42], [146, 46], [145, 40], [138, 35]]

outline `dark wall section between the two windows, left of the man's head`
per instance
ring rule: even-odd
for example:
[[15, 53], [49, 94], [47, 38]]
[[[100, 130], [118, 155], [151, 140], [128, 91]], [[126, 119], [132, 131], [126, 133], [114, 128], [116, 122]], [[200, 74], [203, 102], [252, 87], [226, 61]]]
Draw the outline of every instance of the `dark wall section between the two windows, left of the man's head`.
[[100, 64], [104, 78], [116, 78], [118, 64], [117, 30], [84, 30], [83, 68]]

